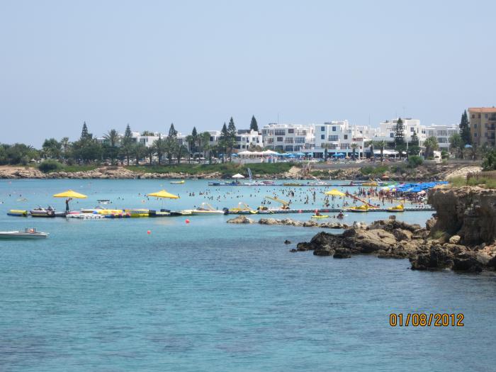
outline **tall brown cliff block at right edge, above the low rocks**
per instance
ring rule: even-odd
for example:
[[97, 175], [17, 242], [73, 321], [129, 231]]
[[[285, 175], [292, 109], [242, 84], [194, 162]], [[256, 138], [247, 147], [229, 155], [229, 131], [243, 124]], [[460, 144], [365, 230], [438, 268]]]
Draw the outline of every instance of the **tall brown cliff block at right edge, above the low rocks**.
[[496, 239], [496, 190], [480, 187], [434, 188], [428, 203], [436, 208], [431, 235], [446, 233], [474, 247]]

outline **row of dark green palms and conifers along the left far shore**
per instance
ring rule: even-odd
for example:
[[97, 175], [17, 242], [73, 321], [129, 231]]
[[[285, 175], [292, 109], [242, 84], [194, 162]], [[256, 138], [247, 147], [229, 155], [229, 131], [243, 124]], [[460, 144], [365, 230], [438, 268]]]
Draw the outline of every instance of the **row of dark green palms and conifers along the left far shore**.
[[[250, 123], [251, 130], [258, 131], [257, 119], [252, 116]], [[154, 136], [149, 130], [141, 133], [142, 136]], [[174, 123], [169, 128], [166, 137], [159, 135], [152, 146], [136, 142], [131, 132], [130, 125], [125, 128], [124, 135], [119, 135], [118, 130], [111, 129], [103, 136], [105, 141], [98, 142], [89, 132], [86, 122], [83, 123], [81, 135], [78, 140], [70, 142], [68, 137], [62, 140], [50, 138], [43, 142], [40, 150], [24, 144], [0, 145], [0, 164], [28, 164], [28, 162], [39, 161], [40, 159], [54, 159], [67, 164], [89, 164], [109, 160], [112, 164], [125, 162], [130, 164], [133, 160], [140, 164], [142, 159], [148, 159], [152, 164], [152, 159], [157, 158], [159, 164], [165, 159], [171, 164], [173, 159], [180, 162], [182, 157], [187, 157], [191, 162], [192, 157], [205, 157], [210, 161], [213, 156], [220, 155], [222, 162], [225, 157], [230, 157], [235, 147], [237, 129], [233, 118], [229, 123], [222, 125], [220, 138], [216, 145], [210, 144], [210, 133], [198, 133], [193, 128], [191, 135], [187, 135], [184, 142], [178, 140], [178, 132], [174, 128]]]

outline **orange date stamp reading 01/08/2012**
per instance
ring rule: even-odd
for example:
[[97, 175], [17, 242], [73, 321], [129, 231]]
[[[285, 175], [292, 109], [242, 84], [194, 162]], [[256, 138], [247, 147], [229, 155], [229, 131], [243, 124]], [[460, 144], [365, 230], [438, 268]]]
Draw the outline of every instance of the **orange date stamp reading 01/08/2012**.
[[407, 313], [389, 315], [389, 325], [391, 327], [463, 327], [463, 319], [465, 316], [462, 313], [458, 314], [440, 314], [425, 312]]

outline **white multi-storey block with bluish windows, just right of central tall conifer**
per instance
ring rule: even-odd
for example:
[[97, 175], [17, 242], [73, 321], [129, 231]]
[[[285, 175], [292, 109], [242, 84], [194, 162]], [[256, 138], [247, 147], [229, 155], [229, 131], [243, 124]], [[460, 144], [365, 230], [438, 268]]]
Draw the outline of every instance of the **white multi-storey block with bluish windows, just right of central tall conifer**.
[[315, 147], [313, 124], [268, 124], [261, 130], [264, 147], [271, 150], [299, 152]]

